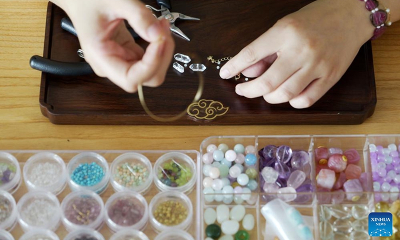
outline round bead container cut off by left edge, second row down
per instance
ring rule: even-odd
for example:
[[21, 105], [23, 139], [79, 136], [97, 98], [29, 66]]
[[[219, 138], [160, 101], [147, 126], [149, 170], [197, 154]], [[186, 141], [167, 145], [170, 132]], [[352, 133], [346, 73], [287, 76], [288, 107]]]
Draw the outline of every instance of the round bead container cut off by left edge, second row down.
[[16, 203], [12, 195], [0, 190], [0, 229], [11, 231], [17, 218]]

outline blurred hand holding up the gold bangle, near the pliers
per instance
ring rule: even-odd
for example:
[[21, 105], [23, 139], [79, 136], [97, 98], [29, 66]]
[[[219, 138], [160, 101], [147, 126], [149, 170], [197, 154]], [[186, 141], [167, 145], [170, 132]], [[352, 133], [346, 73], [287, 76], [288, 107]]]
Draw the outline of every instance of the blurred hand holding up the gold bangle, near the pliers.
[[[127, 92], [135, 92], [137, 84], [158, 86], [164, 81], [174, 50], [167, 20], [157, 20], [139, 0], [53, 1], [72, 20], [85, 60], [98, 76]], [[145, 52], [123, 19], [149, 42]]]

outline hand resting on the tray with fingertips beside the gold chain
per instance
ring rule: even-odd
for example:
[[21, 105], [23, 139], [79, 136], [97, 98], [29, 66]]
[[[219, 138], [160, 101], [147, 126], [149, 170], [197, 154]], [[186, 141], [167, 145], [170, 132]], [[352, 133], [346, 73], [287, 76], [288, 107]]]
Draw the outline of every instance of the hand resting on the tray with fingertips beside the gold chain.
[[256, 77], [236, 85], [239, 95], [309, 107], [340, 79], [372, 36], [369, 14], [359, 0], [314, 1], [278, 20], [219, 74]]

